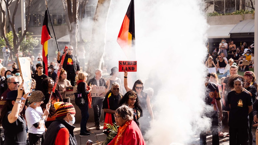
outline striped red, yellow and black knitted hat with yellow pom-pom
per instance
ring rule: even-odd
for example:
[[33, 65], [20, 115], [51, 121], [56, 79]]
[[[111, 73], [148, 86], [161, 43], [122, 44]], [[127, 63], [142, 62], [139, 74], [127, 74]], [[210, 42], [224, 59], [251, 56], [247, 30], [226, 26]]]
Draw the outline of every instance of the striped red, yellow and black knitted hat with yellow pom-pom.
[[57, 116], [64, 116], [67, 113], [75, 114], [75, 108], [72, 105], [72, 103], [67, 103], [67, 102], [56, 102], [54, 103], [54, 107], [56, 109]]

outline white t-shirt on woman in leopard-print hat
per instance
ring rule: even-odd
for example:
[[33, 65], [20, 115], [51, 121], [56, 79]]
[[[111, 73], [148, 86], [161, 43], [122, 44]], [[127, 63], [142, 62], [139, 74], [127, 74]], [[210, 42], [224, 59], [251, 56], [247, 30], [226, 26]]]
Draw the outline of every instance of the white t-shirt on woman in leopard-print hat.
[[41, 107], [37, 107], [36, 109], [28, 107], [25, 110], [25, 115], [26, 115], [26, 120], [27, 120], [27, 126], [29, 129], [28, 132], [33, 133], [33, 134], [42, 135], [45, 132], [45, 127], [41, 126], [40, 129], [37, 129], [33, 125], [41, 120], [41, 116], [43, 115], [43, 111], [42, 111]]

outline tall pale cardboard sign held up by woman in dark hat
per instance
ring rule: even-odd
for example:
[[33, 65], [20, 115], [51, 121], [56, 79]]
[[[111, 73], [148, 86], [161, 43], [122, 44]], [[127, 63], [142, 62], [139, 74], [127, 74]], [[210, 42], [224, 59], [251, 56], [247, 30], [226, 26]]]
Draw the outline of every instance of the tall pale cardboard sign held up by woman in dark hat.
[[31, 89], [31, 63], [30, 57], [18, 57], [18, 64], [20, 68], [20, 75], [22, 77], [23, 88], [25, 94], [30, 92]]

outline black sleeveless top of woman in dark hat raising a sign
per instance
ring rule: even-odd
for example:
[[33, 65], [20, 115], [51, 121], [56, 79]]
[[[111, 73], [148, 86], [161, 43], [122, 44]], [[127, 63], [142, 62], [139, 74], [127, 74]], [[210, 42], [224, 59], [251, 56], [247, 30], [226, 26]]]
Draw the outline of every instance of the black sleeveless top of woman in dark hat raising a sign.
[[4, 144], [26, 144], [27, 132], [25, 119], [22, 116], [18, 116], [18, 119], [14, 123], [9, 123], [8, 115], [10, 113], [11, 111], [7, 112], [2, 120]]

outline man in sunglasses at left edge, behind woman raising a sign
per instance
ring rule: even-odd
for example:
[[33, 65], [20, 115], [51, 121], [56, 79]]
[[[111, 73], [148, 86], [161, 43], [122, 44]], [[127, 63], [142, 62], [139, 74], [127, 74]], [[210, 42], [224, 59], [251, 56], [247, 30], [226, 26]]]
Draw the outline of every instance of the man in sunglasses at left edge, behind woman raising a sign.
[[19, 81], [18, 78], [15, 76], [9, 77], [7, 79], [7, 90], [4, 91], [4, 93], [1, 95], [1, 99], [0, 99], [0, 109], [2, 110], [4, 103], [6, 102], [6, 98], [7, 98], [7, 93], [13, 90], [17, 90], [18, 89], [18, 85], [19, 85]]

